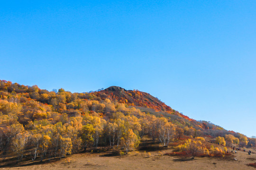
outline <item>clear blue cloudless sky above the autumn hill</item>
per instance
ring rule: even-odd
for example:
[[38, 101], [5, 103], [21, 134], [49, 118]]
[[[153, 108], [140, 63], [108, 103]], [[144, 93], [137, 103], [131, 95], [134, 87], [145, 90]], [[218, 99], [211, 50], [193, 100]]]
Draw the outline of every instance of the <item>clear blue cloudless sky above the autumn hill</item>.
[[256, 1], [1, 1], [0, 79], [138, 89], [256, 136]]

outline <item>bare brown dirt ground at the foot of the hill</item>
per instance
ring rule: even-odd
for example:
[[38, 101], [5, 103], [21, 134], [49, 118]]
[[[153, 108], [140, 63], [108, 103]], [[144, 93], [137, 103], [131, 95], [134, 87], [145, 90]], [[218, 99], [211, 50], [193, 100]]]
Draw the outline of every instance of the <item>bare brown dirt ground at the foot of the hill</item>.
[[[248, 149], [246, 149], [248, 150]], [[229, 149], [231, 152], [231, 149]], [[238, 151], [234, 158], [208, 158], [181, 159], [175, 156], [159, 156], [158, 151], [150, 152], [145, 156], [141, 151], [138, 155], [132, 152], [125, 156], [111, 156], [108, 153], [79, 153], [54, 162], [37, 165], [5, 167], [3, 170], [256, 170], [247, 163], [256, 162], [256, 152], [248, 155], [247, 152]], [[170, 153], [171, 149], [162, 151]]]

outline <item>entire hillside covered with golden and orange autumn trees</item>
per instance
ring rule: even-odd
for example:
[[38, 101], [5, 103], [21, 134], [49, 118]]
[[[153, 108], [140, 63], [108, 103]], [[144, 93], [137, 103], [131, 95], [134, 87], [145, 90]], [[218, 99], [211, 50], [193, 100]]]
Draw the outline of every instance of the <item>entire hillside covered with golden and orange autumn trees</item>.
[[62, 88], [49, 92], [37, 85], [0, 81], [0, 158], [7, 164], [13, 158], [16, 162], [24, 157], [53, 160], [88, 150], [105, 152], [106, 148], [128, 153], [144, 138], [162, 147], [172, 144], [187, 154], [188, 146], [196, 143], [204, 156], [227, 154], [205, 138], [223, 145], [256, 144], [255, 138], [190, 119], [138, 90], [111, 86], [91, 93]]

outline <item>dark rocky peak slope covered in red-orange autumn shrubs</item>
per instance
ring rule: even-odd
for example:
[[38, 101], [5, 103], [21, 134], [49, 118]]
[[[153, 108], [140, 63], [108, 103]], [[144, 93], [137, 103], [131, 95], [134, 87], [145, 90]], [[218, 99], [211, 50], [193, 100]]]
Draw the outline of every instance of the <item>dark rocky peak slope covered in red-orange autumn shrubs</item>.
[[164, 102], [161, 102], [158, 98], [146, 92], [141, 92], [138, 90], [126, 90], [119, 86], [110, 86], [99, 92], [93, 92], [92, 94], [100, 97], [101, 100], [108, 98], [111, 101], [124, 103], [128, 106], [134, 106], [142, 112], [162, 117], [171, 117], [172, 120], [177, 120], [182, 123], [187, 122], [191, 124], [191, 126], [198, 127], [200, 129], [216, 128], [215, 125], [209, 122], [197, 122], [196, 120], [183, 115], [179, 111], [172, 109], [170, 106], [167, 106]]

